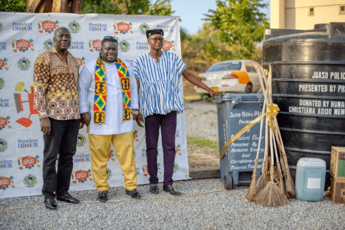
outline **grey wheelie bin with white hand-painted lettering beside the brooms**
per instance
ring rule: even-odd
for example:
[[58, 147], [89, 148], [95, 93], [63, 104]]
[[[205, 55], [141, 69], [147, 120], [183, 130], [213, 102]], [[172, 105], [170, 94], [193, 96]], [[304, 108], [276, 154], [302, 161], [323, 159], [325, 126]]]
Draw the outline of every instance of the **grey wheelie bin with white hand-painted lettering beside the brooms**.
[[[262, 94], [226, 94], [216, 97], [219, 152], [226, 142], [250, 121], [262, 114]], [[265, 119], [262, 120], [265, 122]], [[221, 180], [225, 189], [250, 185], [260, 136], [260, 122], [228, 147], [220, 160]], [[265, 124], [265, 123], [264, 123]], [[265, 125], [262, 130], [256, 178], [259, 178], [265, 149]]]

